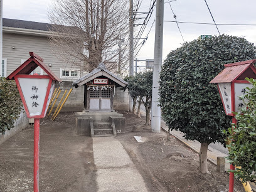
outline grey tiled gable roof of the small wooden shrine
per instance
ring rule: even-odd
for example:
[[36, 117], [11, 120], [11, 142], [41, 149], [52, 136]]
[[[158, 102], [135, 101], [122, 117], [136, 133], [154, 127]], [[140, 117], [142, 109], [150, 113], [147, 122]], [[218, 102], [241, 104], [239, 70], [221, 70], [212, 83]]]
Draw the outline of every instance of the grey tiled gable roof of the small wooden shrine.
[[90, 82], [94, 78], [105, 76], [107, 78], [110, 78], [115, 83], [119, 84], [122, 87], [125, 87], [127, 85], [127, 82], [125, 80], [122, 80], [122, 78], [117, 77], [117, 75], [114, 75], [111, 73], [107, 68], [105, 67], [104, 63], [100, 63], [97, 68], [95, 68], [92, 72], [88, 73], [87, 75], [79, 78], [75, 82], [72, 83], [75, 87], [80, 87], [81, 85], [84, 85], [87, 82]]

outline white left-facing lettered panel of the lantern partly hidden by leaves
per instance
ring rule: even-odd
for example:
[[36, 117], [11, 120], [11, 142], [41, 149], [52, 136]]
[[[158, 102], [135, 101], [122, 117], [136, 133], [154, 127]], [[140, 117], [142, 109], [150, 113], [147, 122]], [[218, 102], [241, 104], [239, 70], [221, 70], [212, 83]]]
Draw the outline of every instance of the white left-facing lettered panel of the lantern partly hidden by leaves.
[[218, 83], [226, 114], [232, 113], [231, 83]]

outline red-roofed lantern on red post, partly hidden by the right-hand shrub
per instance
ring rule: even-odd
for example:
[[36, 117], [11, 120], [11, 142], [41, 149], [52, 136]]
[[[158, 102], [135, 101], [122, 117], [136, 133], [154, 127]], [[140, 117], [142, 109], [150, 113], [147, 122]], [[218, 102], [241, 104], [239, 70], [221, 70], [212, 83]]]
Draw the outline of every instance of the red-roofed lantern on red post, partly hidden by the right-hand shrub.
[[[237, 119], [232, 112], [239, 112], [245, 106], [239, 96], [245, 94], [246, 87], [252, 87], [245, 77], [256, 78], [256, 68], [253, 65], [255, 62], [256, 60], [248, 60], [226, 64], [224, 70], [210, 82], [217, 83], [225, 113], [232, 116], [234, 124], [237, 123]], [[234, 170], [235, 166], [230, 164], [230, 169]], [[233, 186], [234, 173], [230, 173], [230, 192], [233, 192]]]

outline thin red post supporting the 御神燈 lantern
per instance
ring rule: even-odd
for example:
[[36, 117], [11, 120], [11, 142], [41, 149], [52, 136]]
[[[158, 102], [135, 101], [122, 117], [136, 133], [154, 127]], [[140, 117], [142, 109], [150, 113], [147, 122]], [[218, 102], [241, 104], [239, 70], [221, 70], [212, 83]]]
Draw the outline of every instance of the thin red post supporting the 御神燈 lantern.
[[34, 192], [39, 191], [39, 131], [40, 119], [35, 119], [34, 122]]

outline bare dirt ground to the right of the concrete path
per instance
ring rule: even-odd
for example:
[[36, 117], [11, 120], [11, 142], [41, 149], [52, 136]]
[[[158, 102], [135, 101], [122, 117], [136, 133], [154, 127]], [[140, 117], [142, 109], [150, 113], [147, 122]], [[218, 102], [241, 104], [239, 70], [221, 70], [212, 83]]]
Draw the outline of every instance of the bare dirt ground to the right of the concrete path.
[[[208, 162], [210, 173], [198, 172], [199, 156], [175, 137], [168, 141], [167, 134], [152, 134], [150, 126], [143, 131], [131, 132], [135, 124], [143, 125], [141, 119], [124, 112], [127, 133], [117, 136], [142, 174], [150, 191], [228, 191], [229, 176], [217, 173], [216, 166]], [[134, 136], [141, 136], [146, 142], [138, 143]], [[244, 191], [240, 181], [235, 181], [234, 191]]]

